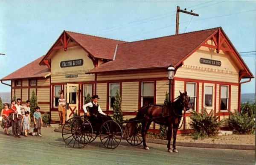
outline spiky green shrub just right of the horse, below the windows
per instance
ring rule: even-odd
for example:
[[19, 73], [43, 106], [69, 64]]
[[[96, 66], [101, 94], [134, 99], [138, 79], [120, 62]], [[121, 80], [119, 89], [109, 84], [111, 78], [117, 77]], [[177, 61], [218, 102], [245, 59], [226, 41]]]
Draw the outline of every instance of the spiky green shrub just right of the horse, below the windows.
[[194, 110], [190, 110], [190, 113], [192, 122], [189, 124], [195, 130], [193, 133], [194, 139], [215, 136], [218, 133], [223, 120], [218, 122], [218, 115], [214, 114], [213, 111], [208, 115], [207, 110], [204, 108], [202, 113], [197, 113]]

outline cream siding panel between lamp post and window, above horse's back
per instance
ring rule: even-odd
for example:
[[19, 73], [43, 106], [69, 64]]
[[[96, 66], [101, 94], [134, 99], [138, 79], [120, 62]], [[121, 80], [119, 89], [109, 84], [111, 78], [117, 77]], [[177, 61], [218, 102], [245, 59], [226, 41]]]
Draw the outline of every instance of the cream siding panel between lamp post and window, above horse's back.
[[156, 104], [163, 104], [166, 92], [169, 93], [169, 81], [157, 81]]

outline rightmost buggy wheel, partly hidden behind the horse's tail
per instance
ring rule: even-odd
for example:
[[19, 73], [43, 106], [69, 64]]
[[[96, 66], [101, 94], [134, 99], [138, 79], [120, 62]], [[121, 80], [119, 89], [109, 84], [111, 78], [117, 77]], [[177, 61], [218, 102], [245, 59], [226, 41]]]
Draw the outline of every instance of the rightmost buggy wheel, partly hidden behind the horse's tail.
[[137, 123], [136, 128], [134, 129], [132, 135], [126, 138], [126, 141], [130, 145], [140, 145], [143, 142], [140, 123]]

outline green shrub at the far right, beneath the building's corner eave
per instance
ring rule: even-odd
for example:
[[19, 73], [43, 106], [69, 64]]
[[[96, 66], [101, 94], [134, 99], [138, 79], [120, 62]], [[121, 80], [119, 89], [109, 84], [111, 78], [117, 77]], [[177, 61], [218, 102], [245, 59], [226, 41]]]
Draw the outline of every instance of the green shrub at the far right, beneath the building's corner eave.
[[230, 113], [230, 119], [227, 119], [227, 122], [234, 134], [253, 133], [254, 121], [253, 116], [250, 115], [250, 112], [246, 110], [243, 110], [243, 113], [239, 113], [237, 110], [234, 114]]

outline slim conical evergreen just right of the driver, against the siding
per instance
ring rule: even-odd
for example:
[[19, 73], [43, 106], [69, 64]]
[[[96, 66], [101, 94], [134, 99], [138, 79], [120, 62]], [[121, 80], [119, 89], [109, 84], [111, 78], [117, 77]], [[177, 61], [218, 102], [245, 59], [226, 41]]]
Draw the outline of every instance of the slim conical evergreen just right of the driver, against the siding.
[[115, 101], [113, 105], [113, 120], [122, 127], [122, 110], [121, 110], [121, 97], [119, 90], [116, 91]]

